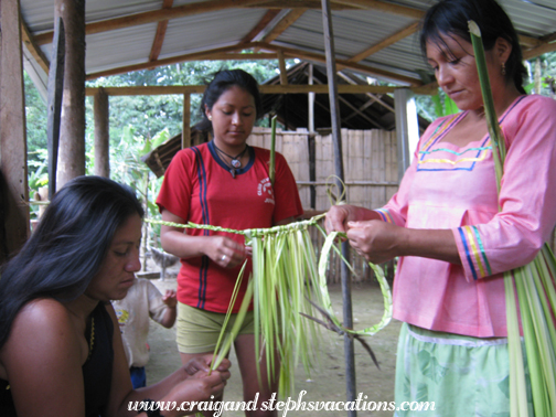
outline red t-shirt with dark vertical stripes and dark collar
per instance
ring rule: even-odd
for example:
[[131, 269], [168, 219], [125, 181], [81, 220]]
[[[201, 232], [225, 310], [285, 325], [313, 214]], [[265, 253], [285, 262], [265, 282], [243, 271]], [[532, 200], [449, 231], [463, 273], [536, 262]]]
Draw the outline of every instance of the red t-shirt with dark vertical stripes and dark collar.
[[[276, 153], [276, 179], [270, 186], [270, 151], [249, 147], [249, 162], [236, 170], [235, 179], [218, 157], [213, 142], [183, 149], [168, 167], [157, 199], [160, 211], [168, 210], [186, 222], [243, 231], [267, 228], [277, 222], [303, 213], [296, 180], [286, 159]], [[224, 235], [242, 244], [243, 235], [197, 228], [185, 229], [192, 236]], [[222, 268], [207, 256], [181, 259], [178, 275], [178, 300], [200, 309], [226, 312], [239, 274]], [[239, 309], [249, 259], [234, 312]]]

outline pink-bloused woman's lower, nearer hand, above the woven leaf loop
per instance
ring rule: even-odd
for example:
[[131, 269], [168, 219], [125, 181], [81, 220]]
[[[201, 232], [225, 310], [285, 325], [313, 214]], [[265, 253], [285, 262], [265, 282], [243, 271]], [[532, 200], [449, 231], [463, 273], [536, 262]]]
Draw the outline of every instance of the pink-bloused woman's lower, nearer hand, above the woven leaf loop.
[[403, 255], [399, 243], [404, 242], [404, 227], [376, 220], [349, 222], [348, 227], [351, 247], [367, 261], [382, 264]]

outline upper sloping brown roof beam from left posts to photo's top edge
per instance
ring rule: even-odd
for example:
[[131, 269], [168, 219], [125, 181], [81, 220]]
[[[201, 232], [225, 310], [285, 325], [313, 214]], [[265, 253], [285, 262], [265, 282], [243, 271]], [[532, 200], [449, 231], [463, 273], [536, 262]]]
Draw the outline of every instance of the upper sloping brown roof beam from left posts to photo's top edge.
[[[178, 6], [171, 9], [151, 10], [141, 13], [128, 14], [121, 18], [101, 20], [97, 22], [87, 23], [85, 25], [85, 34], [94, 34], [114, 31], [117, 29], [125, 29], [137, 26], [139, 24], [157, 23], [164, 20], [172, 20], [184, 18], [188, 15], [215, 12], [218, 10], [243, 8], [246, 6], [254, 6], [263, 3], [263, 0], [210, 0], [197, 1], [195, 3], [188, 3]], [[39, 45], [44, 45], [52, 42], [54, 32], [44, 32], [35, 35], [35, 41]]]

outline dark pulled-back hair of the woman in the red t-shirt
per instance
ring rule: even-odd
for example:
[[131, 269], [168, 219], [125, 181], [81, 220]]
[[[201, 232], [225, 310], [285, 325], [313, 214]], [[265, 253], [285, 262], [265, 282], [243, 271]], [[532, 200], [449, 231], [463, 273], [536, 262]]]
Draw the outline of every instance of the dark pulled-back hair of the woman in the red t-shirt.
[[228, 88], [237, 86], [249, 93], [255, 100], [255, 114], [257, 119], [263, 117], [263, 100], [258, 90], [257, 81], [243, 70], [218, 71], [205, 88], [199, 111], [202, 120], [196, 125], [200, 130], [212, 130], [212, 122], [207, 119], [205, 108], [212, 109], [220, 96]]

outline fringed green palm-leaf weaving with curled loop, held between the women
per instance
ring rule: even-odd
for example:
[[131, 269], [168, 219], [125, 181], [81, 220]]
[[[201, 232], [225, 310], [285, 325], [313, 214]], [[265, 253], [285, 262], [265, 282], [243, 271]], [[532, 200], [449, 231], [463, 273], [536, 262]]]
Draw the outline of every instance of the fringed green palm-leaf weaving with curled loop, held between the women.
[[[341, 256], [340, 250], [333, 244], [338, 234], [331, 234], [327, 237], [319, 261], [317, 261], [316, 250], [309, 234], [311, 226], [317, 226], [324, 233], [318, 225], [319, 220], [323, 216], [324, 214], [321, 214], [308, 221], [290, 223], [285, 226], [246, 231], [148, 220], [150, 223], [171, 227], [200, 228], [244, 235], [246, 244], [253, 247], [253, 275], [247, 292], [232, 330], [227, 329], [228, 318], [225, 319], [211, 368], [217, 367], [222, 359], [227, 355], [252, 298], [254, 301], [255, 352], [259, 352], [259, 360], [263, 357], [263, 353], [266, 353], [266, 364], [261, 365], [266, 365], [269, 383], [279, 376], [278, 393], [282, 397], [293, 391], [293, 375], [299, 362], [308, 374], [319, 363], [319, 350], [314, 346], [321, 342], [321, 328], [314, 321], [303, 317], [303, 314], [318, 317], [319, 311], [311, 301], [317, 306], [322, 306], [330, 319], [343, 332], [372, 335], [389, 322], [392, 296], [382, 269], [374, 265], [371, 267], [381, 282], [384, 296], [385, 313], [381, 322], [365, 330], [355, 331], [343, 328], [335, 317], [327, 287], [327, 266], [332, 249]], [[351, 268], [346, 259], [342, 258], [342, 260]], [[236, 302], [235, 298], [244, 268], [245, 265], [236, 282], [227, 316], [231, 314], [232, 307]], [[275, 370], [272, 366], [276, 360], [280, 363], [279, 370]], [[257, 371], [260, 379], [260, 368]]]

